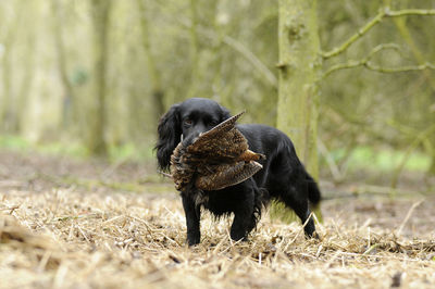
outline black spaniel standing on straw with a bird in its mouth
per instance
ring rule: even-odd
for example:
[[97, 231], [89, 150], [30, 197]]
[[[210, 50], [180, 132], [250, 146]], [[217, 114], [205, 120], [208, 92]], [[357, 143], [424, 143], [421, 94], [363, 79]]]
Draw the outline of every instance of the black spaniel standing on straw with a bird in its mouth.
[[[160, 168], [169, 168], [171, 154], [182, 139], [194, 139], [229, 116], [225, 108], [209, 99], [194, 98], [172, 105], [158, 127], [156, 149]], [[231, 237], [239, 240], [246, 239], [256, 227], [262, 208], [271, 199], [291, 208], [302, 224], [310, 216], [309, 201], [316, 204], [321, 199], [318, 185], [285, 134], [265, 125], [238, 125], [237, 128], [247, 138], [250, 150], [266, 155], [260, 161], [263, 168], [251, 178], [219, 191], [182, 191], [189, 246], [200, 242], [201, 206], [215, 216], [234, 213]], [[312, 237], [314, 231], [314, 222], [310, 218], [304, 233]]]

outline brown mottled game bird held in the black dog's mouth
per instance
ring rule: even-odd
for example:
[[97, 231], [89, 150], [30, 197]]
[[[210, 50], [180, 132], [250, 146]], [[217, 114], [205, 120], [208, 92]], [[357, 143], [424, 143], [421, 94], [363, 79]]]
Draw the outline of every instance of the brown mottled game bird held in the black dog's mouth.
[[262, 168], [257, 161], [265, 156], [249, 150], [248, 141], [235, 126], [243, 114], [200, 134], [191, 143], [178, 143], [171, 155], [171, 177], [177, 190], [191, 186], [220, 190], [248, 179]]

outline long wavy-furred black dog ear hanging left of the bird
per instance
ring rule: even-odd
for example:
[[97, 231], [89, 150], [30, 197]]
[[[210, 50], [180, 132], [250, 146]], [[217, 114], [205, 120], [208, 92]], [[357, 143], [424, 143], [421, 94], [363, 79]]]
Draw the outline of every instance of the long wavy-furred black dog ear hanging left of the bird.
[[156, 144], [159, 167], [166, 171], [171, 163], [171, 154], [182, 137], [179, 104], [174, 104], [160, 118], [158, 126], [158, 140]]

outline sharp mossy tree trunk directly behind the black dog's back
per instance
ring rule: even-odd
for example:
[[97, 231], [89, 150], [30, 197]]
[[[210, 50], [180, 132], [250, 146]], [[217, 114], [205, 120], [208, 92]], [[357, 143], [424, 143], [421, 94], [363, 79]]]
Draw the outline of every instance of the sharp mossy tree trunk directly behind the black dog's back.
[[[277, 127], [291, 138], [299, 159], [318, 179], [316, 80], [321, 63], [315, 0], [279, 0], [278, 49]], [[288, 213], [275, 209], [272, 216], [277, 213], [288, 219]]]

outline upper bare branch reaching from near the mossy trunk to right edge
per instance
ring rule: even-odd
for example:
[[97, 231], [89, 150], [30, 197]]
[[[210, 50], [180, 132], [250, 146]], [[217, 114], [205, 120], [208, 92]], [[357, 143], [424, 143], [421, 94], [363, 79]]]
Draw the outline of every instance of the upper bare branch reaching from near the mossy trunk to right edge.
[[403, 9], [399, 11], [390, 11], [389, 8], [381, 9], [376, 16], [369, 21], [364, 26], [359, 28], [356, 34], [353, 34], [349, 39], [344, 41], [339, 47], [336, 47], [327, 52], [322, 52], [321, 56], [325, 59], [333, 58], [345, 52], [353, 42], [364, 36], [369, 30], [371, 30], [376, 24], [380, 24], [385, 17], [401, 17], [409, 15], [420, 15], [428, 16], [435, 15], [435, 9], [423, 10], [423, 9]]

